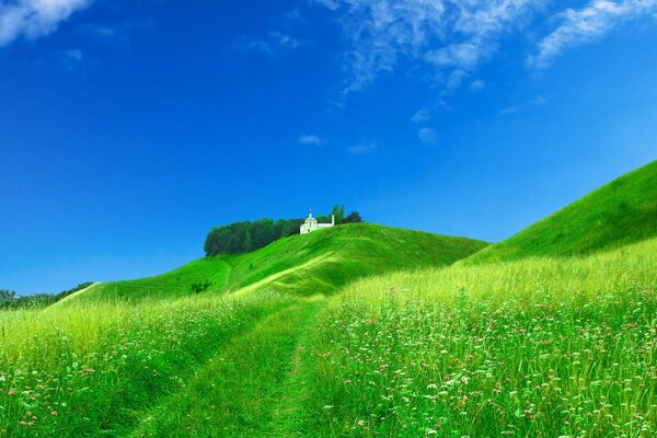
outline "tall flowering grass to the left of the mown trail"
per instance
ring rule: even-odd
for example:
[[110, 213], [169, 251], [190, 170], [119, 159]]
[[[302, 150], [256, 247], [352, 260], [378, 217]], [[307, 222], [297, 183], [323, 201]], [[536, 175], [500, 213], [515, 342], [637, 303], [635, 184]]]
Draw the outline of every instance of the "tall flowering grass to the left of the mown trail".
[[221, 345], [296, 300], [85, 302], [0, 313], [0, 436], [120, 436]]

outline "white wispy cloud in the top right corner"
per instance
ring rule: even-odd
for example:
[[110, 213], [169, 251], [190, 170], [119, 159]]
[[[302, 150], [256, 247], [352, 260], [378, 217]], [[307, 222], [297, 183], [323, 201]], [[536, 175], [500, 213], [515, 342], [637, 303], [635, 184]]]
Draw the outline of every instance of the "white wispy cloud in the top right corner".
[[564, 50], [604, 36], [616, 25], [655, 14], [657, 0], [590, 0], [586, 7], [560, 14], [561, 25], [539, 43], [538, 54], [528, 57], [535, 69], [550, 66]]

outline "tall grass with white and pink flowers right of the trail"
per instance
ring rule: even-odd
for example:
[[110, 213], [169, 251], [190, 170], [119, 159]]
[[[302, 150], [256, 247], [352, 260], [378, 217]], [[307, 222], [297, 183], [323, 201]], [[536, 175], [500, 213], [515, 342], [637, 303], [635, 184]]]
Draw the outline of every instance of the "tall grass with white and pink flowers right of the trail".
[[657, 239], [357, 281], [318, 332], [306, 433], [655, 436], [656, 289]]

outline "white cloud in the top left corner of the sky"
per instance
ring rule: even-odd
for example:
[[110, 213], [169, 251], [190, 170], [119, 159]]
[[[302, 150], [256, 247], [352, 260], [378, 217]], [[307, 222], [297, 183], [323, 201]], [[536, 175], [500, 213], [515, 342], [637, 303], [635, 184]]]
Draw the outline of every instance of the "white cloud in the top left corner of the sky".
[[59, 24], [93, 0], [0, 0], [0, 46], [55, 32]]

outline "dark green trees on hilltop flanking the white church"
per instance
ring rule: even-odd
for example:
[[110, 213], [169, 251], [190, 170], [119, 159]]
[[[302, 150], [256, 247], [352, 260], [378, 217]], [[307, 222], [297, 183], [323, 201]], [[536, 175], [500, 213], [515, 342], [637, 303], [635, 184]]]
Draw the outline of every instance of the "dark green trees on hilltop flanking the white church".
[[[331, 222], [335, 216], [335, 224], [361, 222], [358, 211], [345, 216], [345, 206], [336, 205], [328, 215], [316, 217], [320, 222]], [[219, 254], [240, 254], [255, 251], [288, 235], [298, 234], [303, 219], [258, 219], [254, 222], [244, 220], [222, 227], [215, 227], [208, 233], [204, 251], [210, 257]]]

